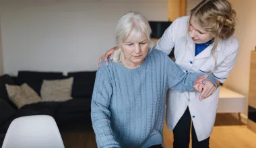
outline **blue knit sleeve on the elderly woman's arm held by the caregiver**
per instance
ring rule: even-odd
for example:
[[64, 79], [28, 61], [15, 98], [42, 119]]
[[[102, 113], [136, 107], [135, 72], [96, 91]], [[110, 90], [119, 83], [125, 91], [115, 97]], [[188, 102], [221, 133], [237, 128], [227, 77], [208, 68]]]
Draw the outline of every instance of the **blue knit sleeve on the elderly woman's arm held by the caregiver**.
[[[166, 60], [168, 65], [168, 88], [175, 89], [179, 92], [195, 91], [193, 87], [194, 81], [197, 77], [205, 75], [205, 73], [185, 73], [170, 58], [167, 57]], [[214, 75], [209, 75], [204, 81], [212, 81], [217, 86]]]

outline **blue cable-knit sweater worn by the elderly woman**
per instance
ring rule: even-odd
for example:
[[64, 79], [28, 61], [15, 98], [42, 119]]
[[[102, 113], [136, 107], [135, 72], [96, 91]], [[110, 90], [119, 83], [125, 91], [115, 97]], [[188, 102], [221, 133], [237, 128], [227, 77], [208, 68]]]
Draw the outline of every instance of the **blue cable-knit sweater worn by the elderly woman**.
[[[92, 96], [92, 125], [98, 147], [150, 147], [162, 143], [168, 88], [194, 91], [203, 73], [184, 73], [164, 52], [152, 50], [137, 69], [103, 61]], [[207, 80], [214, 84], [210, 75]]]

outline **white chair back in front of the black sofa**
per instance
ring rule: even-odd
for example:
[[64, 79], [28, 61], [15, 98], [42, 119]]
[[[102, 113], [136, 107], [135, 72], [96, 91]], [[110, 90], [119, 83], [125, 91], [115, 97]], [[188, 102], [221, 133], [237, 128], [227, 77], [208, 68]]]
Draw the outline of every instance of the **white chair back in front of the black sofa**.
[[24, 116], [13, 120], [2, 148], [63, 148], [59, 128], [51, 116]]

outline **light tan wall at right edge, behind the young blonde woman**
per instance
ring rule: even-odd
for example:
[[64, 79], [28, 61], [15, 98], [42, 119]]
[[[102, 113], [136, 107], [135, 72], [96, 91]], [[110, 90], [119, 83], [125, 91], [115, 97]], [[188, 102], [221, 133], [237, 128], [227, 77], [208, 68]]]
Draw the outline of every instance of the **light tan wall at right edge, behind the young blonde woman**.
[[[240, 47], [234, 69], [224, 83], [226, 87], [247, 96], [249, 94], [250, 52], [256, 46], [256, 1], [230, 0], [237, 13], [235, 36]], [[247, 99], [248, 100], [248, 99]], [[246, 104], [246, 108], [248, 105]], [[247, 116], [247, 110], [245, 110]]]

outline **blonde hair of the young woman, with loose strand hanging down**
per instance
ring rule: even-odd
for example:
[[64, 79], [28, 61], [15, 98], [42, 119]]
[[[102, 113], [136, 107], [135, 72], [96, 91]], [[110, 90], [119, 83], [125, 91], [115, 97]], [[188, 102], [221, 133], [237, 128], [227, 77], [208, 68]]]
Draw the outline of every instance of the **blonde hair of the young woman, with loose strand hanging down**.
[[212, 54], [215, 59], [214, 71], [217, 67], [216, 48], [220, 40], [227, 40], [234, 34], [236, 11], [232, 9], [231, 3], [227, 0], [204, 0], [191, 9], [189, 24], [192, 16], [203, 30], [214, 37], [214, 42], [212, 43]]

